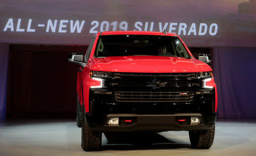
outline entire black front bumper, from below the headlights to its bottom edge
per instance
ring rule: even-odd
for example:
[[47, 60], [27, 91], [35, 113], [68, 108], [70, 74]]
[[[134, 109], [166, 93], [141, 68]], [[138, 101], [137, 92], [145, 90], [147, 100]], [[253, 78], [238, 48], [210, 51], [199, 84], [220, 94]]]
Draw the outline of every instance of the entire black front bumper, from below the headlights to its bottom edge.
[[[95, 90], [90, 90], [91, 111], [85, 113], [85, 121], [91, 130], [98, 132], [208, 130], [216, 121], [214, 90], [197, 91], [209, 91], [210, 94], [195, 94], [192, 102], [121, 103], [113, 99], [113, 94], [96, 94]], [[195, 116], [199, 117], [200, 124], [191, 124], [191, 117]], [[108, 120], [114, 117], [133, 122], [108, 125]], [[186, 123], [178, 119], [186, 119]]]

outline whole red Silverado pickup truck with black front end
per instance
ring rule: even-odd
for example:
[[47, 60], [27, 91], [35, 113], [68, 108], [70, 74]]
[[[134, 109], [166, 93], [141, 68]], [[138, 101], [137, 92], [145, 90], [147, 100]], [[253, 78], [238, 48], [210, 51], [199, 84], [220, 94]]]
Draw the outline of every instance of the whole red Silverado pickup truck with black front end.
[[189, 131], [192, 147], [212, 146], [217, 90], [208, 55], [199, 60], [166, 32], [99, 32], [86, 53], [69, 54], [80, 65], [82, 149], [100, 149], [102, 132], [168, 130]]

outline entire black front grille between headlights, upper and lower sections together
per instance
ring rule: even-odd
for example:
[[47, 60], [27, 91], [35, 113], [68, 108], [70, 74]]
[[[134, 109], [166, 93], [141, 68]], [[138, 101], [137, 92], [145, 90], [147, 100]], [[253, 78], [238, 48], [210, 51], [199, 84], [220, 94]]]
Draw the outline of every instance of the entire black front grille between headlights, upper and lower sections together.
[[131, 103], [192, 102], [201, 80], [195, 73], [114, 73], [114, 100]]

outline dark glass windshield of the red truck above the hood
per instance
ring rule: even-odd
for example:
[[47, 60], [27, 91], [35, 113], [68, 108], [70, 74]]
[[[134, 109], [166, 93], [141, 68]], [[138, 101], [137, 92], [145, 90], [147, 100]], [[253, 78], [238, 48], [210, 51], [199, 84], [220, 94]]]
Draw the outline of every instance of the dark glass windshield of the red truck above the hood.
[[178, 37], [156, 35], [102, 35], [98, 39], [94, 56], [168, 56], [190, 58]]

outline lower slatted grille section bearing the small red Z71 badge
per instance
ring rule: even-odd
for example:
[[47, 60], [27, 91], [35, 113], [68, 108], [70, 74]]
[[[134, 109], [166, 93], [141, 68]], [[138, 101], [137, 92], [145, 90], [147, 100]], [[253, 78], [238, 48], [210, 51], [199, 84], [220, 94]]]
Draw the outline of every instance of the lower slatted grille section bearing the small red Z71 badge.
[[117, 102], [191, 102], [194, 91], [115, 91]]

